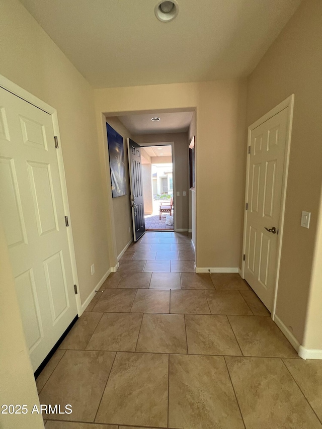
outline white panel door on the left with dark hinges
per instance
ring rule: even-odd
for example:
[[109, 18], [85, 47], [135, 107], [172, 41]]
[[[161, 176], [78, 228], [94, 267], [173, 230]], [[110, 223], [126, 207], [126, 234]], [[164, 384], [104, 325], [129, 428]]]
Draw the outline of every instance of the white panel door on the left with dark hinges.
[[52, 117], [0, 88], [0, 217], [34, 371], [77, 314]]

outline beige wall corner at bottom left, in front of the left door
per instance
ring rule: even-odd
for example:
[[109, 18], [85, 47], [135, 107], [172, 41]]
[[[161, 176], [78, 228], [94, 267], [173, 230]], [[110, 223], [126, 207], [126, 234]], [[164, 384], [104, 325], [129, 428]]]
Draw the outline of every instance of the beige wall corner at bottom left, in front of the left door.
[[31, 414], [39, 399], [10, 268], [3, 225], [0, 220], [0, 405], [26, 404], [27, 414], [0, 414], [0, 427], [40, 429], [41, 414]]

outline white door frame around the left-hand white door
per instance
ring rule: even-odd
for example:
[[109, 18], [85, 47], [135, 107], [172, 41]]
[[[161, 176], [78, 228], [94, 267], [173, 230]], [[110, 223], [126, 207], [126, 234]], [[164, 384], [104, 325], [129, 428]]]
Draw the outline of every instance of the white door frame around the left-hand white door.
[[[57, 110], [49, 106], [49, 104], [45, 103], [44, 101], [40, 100], [38, 97], [34, 96], [33, 94], [19, 87], [16, 83], [12, 82], [11, 80], [7, 79], [7, 77], [1, 74], [0, 74], [0, 87], [3, 88], [4, 90], [9, 91], [15, 96], [21, 98], [27, 103], [32, 104], [38, 109], [43, 110], [44, 112], [48, 113], [51, 116], [54, 135], [58, 137], [58, 142], [59, 142], [59, 147], [56, 149], [57, 150], [56, 153], [57, 153], [58, 171], [59, 171], [59, 178], [60, 178], [60, 184], [61, 184], [63, 207], [64, 207], [65, 215], [68, 216], [69, 226], [66, 229], [67, 229], [69, 256], [70, 256], [70, 262], [71, 262], [71, 271], [72, 271], [73, 282], [75, 285], [78, 286], [78, 292], [79, 292], [76, 256], [75, 256], [74, 241], [72, 236], [72, 224], [71, 224], [71, 216], [70, 216], [69, 203], [68, 203], [65, 168], [64, 168], [64, 161], [62, 156], [62, 143], [61, 143], [61, 138], [59, 133]], [[82, 310], [82, 303], [81, 303], [81, 298], [79, 293], [75, 295], [75, 300], [76, 300], [78, 316], [81, 316], [83, 310]]]

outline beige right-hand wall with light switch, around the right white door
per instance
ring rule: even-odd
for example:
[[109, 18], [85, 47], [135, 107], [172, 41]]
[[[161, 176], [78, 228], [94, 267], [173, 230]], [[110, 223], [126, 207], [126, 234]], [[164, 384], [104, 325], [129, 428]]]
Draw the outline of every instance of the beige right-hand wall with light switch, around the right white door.
[[[248, 79], [247, 125], [295, 94], [276, 314], [301, 344], [322, 183], [321, 16], [320, 0], [302, 2]], [[302, 210], [311, 212], [309, 229], [300, 226]], [[306, 338], [322, 349], [321, 283], [312, 298], [319, 325]]]

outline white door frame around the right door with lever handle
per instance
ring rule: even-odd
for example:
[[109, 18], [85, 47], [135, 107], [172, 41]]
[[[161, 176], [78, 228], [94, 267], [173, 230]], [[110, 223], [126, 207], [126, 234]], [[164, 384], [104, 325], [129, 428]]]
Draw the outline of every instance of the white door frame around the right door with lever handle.
[[[277, 237], [277, 265], [276, 265], [276, 281], [274, 285], [274, 294], [273, 294], [273, 309], [271, 317], [274, 319], [275, 310], [276, 310], [276, 299], [277, 299], [277, 290], [278, 290], [278, 280], [280, 272], [280, 263], [281, 263], [281, 249], [283, 241], [283, 232], [284, 232], [284, 217], [285, 217], [285, 203], [286, 203], [286, 188], [287, 188], [287, 177], [288, 177], [288, 166], [289, 166], [289, 155], [290, 155], [290, 145], [291, 145], [291, 134], [292, 134], [292, 123], [293, 123], [293, 110], [294, 110], [294, 94], [287, 97], [280, 104], [275, 106], [272, 110], [262, 116], [260, 119], [255, 121], [252, 125], [248, 127], [248, 138], [247, 138], [247, 152], [248, 147], [251, 145], [251, 133], [252, 131], [259, 127], [261, 124], [266, 122], [268, 119], [275, 116], [277, 113], [281, 112], [284, 109], [287, 111], [287, 124], [286, 124], [286, 141], [285, 141], [285, 152], [284, 152], [284, 166], [283, 166], [283, 178], [282, 178], [282, 193], [281, 193], [281, 211], [278, 222], [279, 234]], [[245, 186], [245, 202], [244, 202], [244, 229], [243, 229], [243, 255], [246, 253], [246, 233], [247, 233], [247, 215], [248, 211], [246, 210], [246, 203], [249, 190], [249, 174], [250, 174], [250, 157], [247, 156], [247, 165], [246, 165], [246, 186]], [[241, 261], [241, 278], [245, 279], [245, 261], [242, 258]]]

